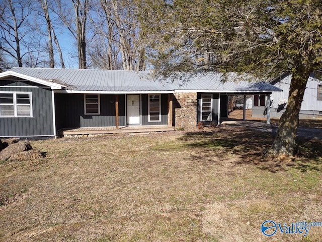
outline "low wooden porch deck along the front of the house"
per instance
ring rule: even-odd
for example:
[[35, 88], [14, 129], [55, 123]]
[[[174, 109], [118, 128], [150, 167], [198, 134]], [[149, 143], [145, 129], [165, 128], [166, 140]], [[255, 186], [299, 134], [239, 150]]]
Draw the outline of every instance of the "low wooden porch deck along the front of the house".
[[162, 131], [175, 131], [175, 127], [171, 127], [168, 125], [147, 125], [147, 126], [121, 126], [119, 127], [119, 129], [116, 129], [116, 127], [61, 129], [58, 131], [58, 136], [144, 133], [144, 132], [162, 132]]

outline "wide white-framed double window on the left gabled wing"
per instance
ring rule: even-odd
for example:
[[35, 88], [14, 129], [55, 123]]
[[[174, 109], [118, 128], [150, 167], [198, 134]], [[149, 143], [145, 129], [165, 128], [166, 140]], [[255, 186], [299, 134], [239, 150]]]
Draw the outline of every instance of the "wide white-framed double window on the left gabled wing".
[[31, 92], [1, 92], [0, 117], [32, 117]]

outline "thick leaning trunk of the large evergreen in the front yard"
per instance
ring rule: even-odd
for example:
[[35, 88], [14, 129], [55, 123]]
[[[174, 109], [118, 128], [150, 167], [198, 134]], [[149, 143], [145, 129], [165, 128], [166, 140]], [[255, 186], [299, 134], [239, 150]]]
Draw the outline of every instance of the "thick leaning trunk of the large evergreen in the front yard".
[[292, 74], [286, 110], [280, 118], [277, 134], [270, 149], [273, 154], [292, 155], [295, 147], [299, 112], [310, 70], [299, 64]]

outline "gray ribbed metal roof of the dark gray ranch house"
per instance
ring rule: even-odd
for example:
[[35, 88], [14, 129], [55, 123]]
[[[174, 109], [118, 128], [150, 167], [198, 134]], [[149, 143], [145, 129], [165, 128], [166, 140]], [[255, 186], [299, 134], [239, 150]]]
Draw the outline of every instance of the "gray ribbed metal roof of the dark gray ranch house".
[[[153, 79], [148, 71], [92, 69], [12, 68], [10, 73], [56, 83], [70, 92], [225, 92], [254, 93], [282, 91], [266, 82], [249, 82], [249, 76], [234, 73], [181, 75], [174, 79]], [[8, 72], [8, 75], [9, 75]], [[6, 72], [5, 72], [6, 73]], [[3, 75], [6, 75], [2, 73]]]

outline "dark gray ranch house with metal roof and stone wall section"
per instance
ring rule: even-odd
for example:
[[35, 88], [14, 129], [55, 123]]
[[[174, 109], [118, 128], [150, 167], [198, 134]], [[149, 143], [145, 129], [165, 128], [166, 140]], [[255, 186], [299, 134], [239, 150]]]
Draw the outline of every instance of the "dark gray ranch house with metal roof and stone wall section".
[[0, 137], [194, 129], [198, 122], [220, 124], [228, 95], [281, 91], [265, 82], [232, 82], [234, 76], [161, 82], [149, 72], [13, 68], [0, 74]]

